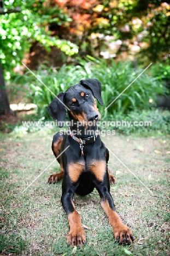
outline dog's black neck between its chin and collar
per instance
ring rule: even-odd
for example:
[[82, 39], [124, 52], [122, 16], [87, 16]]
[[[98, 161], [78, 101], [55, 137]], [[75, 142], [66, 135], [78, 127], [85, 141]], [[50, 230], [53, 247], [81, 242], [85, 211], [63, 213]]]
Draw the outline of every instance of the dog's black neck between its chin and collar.
[[98, 130], [97, 124], [84, 126], [80, 125], [80, 122], [74, 118], [69, 118], [70, 129], [74, 136], [78, 138], [87, 138], [91, 136], [95, 136]]

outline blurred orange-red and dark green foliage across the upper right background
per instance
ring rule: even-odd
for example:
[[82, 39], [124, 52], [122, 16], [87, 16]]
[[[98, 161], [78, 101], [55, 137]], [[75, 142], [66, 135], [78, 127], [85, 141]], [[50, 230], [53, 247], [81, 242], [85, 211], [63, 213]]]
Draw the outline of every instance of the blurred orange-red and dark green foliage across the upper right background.
[[[72, 38], [81, 55], [136, 54], [142, 62], [169, 58], [169, 3], [156, 0], [55, 1], [69, 15], [58, 36]], [[51, 30], [58, 30], [53, 26]], [[63, 33], [65, 31], [65, 33]], [[103, 54], [102, 54], [103, 53]], [[122, 55], [123, 56], [123, 55]]]

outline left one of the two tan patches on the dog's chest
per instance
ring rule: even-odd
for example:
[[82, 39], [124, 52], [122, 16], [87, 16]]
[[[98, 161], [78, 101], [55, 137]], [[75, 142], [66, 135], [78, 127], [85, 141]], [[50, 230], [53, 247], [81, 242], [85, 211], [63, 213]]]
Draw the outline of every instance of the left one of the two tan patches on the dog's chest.
[[72, 182], [77, 182], [80, 174], [85, 170], [85, 162], [72, 162], [68, 165], [68, 174]]

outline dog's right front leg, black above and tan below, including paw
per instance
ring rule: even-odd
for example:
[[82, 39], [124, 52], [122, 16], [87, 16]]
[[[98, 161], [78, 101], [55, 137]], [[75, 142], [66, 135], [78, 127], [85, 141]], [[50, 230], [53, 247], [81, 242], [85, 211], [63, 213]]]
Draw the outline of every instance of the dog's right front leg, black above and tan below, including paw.
[[109, 187], [104, 185], [104, 182], [96, 182], [96, 188], [101, 196], [101, 206], [109, 218], [109, 223], [112, 225], [115, 242], [119, 242], [121, 245], [124, 243], [130, 245], [134, 240], [132, 231], [122, 223], [121, 218], [116, 213]]

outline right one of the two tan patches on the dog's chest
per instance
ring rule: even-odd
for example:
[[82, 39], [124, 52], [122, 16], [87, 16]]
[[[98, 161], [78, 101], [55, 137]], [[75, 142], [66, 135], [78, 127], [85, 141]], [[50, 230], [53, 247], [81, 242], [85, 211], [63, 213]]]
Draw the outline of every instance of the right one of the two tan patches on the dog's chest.
[[106, 162], [103, 160], [90, 162], [89, 170], [95, 175], [98, 181], [103, 181], [104, 173], [106, 172]]

